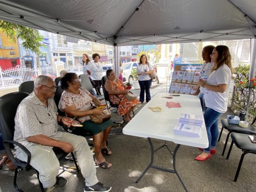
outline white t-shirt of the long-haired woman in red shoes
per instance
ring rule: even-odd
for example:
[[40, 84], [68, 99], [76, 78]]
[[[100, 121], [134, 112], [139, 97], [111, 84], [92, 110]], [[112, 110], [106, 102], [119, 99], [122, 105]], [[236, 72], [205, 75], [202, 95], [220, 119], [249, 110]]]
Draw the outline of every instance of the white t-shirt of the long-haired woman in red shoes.
[[207, 79], [207, 84], [227, 84], [227, 90], [224, 93], [212, 92], [205, 88], [204, 99], [207, 108], [214, 109], [219, 113], [225, 113], [228, 107], [228, 92], [231, 81], [231, 71], [227, 65], [222, 65], [214, 70]]

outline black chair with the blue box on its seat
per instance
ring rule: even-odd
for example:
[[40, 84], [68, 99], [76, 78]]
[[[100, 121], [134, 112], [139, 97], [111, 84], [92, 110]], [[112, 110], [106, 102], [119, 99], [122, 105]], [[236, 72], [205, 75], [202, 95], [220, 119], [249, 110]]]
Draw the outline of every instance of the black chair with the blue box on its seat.
[[252, 121], [252, 124], [249, 124], [247, 128], [243, 128], [239, 125], [228, 124], [227, 118], [221, 119], [220, 122], [221, 122], [222, 128], [221, 128], [221, 131], [220, 131], [220, 136], [218, 138], [218, 141], [220, 141], [220, 137], [221, 137], [221, 134], [222, 134], [222, 131], [223, 131], [224, 128], [229, 131], [228, 134], [227, 134], [227, 138], [226, 138], [226, 141], [225, 141], [223, 151], [222, 151], [222, 156], [224, 156], [224, 154], [225, 154], [225, 150], [226, 150], [227, 143], [228, 143], [228, 138], [229, 138], [229, 135], [232, 132], [240, 132], [240, 133], [244, 133], [244, 134], [256, 134], [256, 129], [255, 129], [255, 127], [253, 127], [253, 124], [255, 123], [255, 120], [256, 120], [256, 116], [254, 117], [254, 119]]

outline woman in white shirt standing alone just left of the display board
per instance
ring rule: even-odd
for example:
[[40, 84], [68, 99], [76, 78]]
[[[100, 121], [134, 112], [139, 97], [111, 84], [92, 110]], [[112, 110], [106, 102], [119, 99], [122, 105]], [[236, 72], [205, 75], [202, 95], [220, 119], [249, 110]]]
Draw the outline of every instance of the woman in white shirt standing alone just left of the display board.
[[154, 73], [154, 68], [150, 63], [148, 63], [147, 56], [142, 54], [140, 56], [140, 63], [137, 67], [137, 74], [140, 84], [140, 102], [144, 102], [144, 95], [146, 92], [146, 102], [151, 100], [150, 96], [150, 85], [151, 85], [151, 78], [148, 74]]

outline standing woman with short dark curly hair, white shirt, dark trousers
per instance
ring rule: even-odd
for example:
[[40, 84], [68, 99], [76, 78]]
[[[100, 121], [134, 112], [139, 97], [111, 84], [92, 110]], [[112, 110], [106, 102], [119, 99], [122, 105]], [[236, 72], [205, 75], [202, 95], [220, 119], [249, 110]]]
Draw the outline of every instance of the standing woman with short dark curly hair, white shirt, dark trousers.
[[98, 53], [94, 53], [92, 55], [93, 61], [88, 65], [87, 70], [89, 71], [92, 79], [92, 85], [95, 88], [97, 95], [101, 95], [100, 87], [101, 87], [101, 78], [102, 78], [102, 64], [99, 62], [100, 55]]

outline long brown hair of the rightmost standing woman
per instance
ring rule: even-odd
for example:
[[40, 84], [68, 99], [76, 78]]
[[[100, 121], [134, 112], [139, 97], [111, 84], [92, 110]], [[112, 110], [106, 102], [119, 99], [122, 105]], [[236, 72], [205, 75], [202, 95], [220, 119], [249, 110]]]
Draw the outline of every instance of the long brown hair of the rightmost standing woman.
[[214, 63], [214, 67], [212, 68], [212, 71], [217, 70], [222, 65], [226, 64], [230, 68], [231, 73], [233, 73], [231, 55], [228, 47], [225, 45], [218, 45], [215, 47], [215, 50], [218, 52], [218, 57], [216, 59], [216, 63]]

